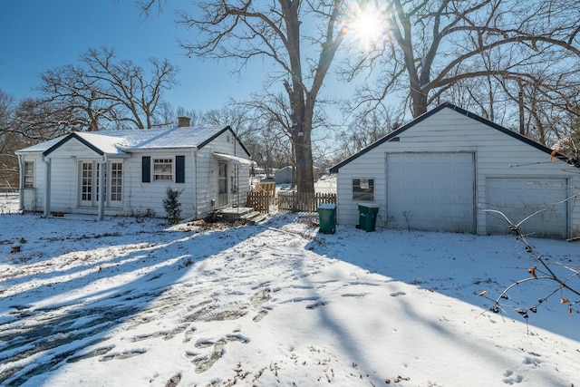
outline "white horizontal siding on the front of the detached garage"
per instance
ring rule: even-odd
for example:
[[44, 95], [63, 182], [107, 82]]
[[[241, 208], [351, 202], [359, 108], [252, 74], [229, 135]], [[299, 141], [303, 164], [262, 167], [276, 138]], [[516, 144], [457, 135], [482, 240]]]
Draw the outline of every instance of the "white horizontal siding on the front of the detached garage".
[[[377, 226], [387, 226], [385, 155], [402, 152], [472, 152], [475, 154], [475, 199], [477, 233], [487, 234], [486, 181], [488, 178], [551, 177], [568, 179], [570, 195], [578, 193], [579, 172], [563, 161], [550, 162], [550, 155], [522, 140], [471, 119], [451, 109], [442, 109], [402, 131], [397, 140], [386, 141], [344, 165], [338, 171], [337, 221], [358, 223], [358, 208], [352, 199], [352, 179], [375, 179], [375, 201], [380, 204]], [[580, 208], [569, 204], [570, 237], [580, 236]]]

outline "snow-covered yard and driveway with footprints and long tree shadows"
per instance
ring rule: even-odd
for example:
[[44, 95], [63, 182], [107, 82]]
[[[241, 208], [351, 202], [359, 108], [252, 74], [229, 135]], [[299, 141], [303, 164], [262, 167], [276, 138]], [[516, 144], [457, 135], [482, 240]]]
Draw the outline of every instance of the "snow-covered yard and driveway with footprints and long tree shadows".
[[[488, 311], [534, 266], [514, 237], [326, 235], [282, 215], [168, 227], [14, 206], [0, 198], [2, 385], [580, 383], [577, 307], [558, 292], [527, 324], [514, 312], [554, 285], [527, 282]], [[555, 269], [580, 264], [575, 243], [529, 241]]]

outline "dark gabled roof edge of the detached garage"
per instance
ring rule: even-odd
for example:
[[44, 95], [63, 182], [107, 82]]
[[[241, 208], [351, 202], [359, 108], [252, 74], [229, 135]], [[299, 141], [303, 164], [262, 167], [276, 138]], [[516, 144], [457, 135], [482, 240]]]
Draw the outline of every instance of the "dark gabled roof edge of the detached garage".
[[[521, 134], [517, 133], [516, 131], [510, 131], [507, 128], [504, 128], [501, 125], [498, 125], [495, 122], [486, 120], [483, 117], [478, 116], [477, 114], [474, 114], [470, 111], [466, 111], [465, 109], [459, 108], [459, 106], [455, 106], [452, 103], [449, 102], [444, 102], [441, 103], [439, 106], [437, 106], [436, 108], [427, 111], [426, 113], [420, 115], [419, 117], [417, 117], [415, 120], [407, 123], [406, 125], [401, 126], [401, 128], [399, 128], [396, 131], [391, 131], [391, 133], [387, 134], [386, 136], [382, 137], [379, 140], [376, 140], [375, 142], [373, 142], [371, 145], [367, 146], [366, 148], [363, 148], [362, 150], [359, 150], [357, 153], [354, 153], [351, 157], [339, 162], [338, 164], [336, 164], [335, 166], [333, 166], [330, 169], [331, 173], [338, 173], [338, 169], [341, 169], [344, 165], [348, 164], [349, 162], [358, 159], [359, 157], [361, 157], [364, 153], [373, 150], [374, 148], [380, 146], [383, 142], [386, 142], [388, 140], [391, 140], [397, 136], [399, 136], [403, 131], [407, 131], [408, 129], [410, 129], [411, 127], [413, 127], [414, 125], [418, 124], [420, 121], [423, 121], [427, 118], [429, 118], [430, 116], [438, 113], [439, 111], [442, 111], [443, 109], [451, 109], [453, 111], [457, 111], [460, 114], [465, 115], [466, 117], [469, 117], [470, 119], [479, 121], [481, 123], [484, 123], [485, 125], [488, 125], [489, 127], [496, 129], [498, 131], [501, 131], [505, 134], [507, 134], [508, 136], [513, 137], [514, 139], [526, 142], [528, 145], [536, 148], [537, 150], [542, 150], [544, 152], [546, 152], [547, 154], [551, 154], [553, 152], [553, 150], [547, 148], [545, 145], [540, 144], [539, 142], [536, 142], [534, 140], [530, 140], [525, 136], [522, 136]], [[569, 162], [569, 159], [561, 154], [561, 153], [557, 153], [555, 154], [555, 157], [557, 159], [560, 160], [564, 160], [566, 162]], [[574, 163], [572, 163], [574, 165]]]

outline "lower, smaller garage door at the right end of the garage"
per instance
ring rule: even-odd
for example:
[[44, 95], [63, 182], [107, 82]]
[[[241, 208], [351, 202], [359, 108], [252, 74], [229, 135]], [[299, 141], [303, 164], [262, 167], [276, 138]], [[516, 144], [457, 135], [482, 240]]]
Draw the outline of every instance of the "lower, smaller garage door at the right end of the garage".
[[[566, 237], [566, 205], [547, 206], [566, 198], [565, 179], [487, 179], [487, 208], [498, 209], [512, 223], [519, 223], [538, 209], [546, 210], [529, 218], [519, 228], [535, 237]], [[506, 219], [487, 214], [488, 234], [509, 233]]]

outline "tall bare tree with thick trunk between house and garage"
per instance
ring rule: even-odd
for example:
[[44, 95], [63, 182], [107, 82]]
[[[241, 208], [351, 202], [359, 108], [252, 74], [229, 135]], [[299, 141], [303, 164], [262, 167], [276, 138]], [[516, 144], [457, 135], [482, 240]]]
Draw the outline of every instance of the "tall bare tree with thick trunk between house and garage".
[[[282, 82], [290, 102], [297, 188], [314, 192], [312, 129], [314, 108], [334, 55], [343, 43], [340, 0], [272, 2], [208, 1], [197, 13], [179, 12], [178, 23], [197, 30], [197, 40], [181, 40], [187, 53], [234, 59], [241, 69], [254, 59], [275, 64], [270, 84]], [[159, 1], [142, 2], [149, 12]], [[302, 27], [308, 25], [308, 32]]]

